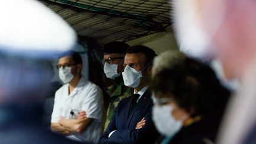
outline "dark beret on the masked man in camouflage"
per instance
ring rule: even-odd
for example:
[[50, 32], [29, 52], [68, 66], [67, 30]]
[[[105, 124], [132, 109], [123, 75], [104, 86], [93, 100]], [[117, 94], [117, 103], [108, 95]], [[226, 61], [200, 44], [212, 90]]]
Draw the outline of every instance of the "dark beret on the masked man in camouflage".
[[104, 55], [108, 53], [126, 53], [128, 44], [124, 43], [123, 41], [113, 41], [110, 43], [105, 44], [103, 47]]

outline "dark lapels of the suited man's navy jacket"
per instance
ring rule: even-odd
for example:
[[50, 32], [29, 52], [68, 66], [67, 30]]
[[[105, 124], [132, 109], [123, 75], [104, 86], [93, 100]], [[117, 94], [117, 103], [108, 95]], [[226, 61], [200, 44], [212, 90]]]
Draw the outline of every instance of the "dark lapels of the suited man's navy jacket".
[[[129, 108], [128, 109], [128, 113], [127, 113], [127, 116], [128, 116], [128, 125], [127, 127], [130, 126], [130, 121], [132, 120], [133, 118], [133, 115], [136, 113], [136, 111], [142, 106], [144, 105], [144, 103], [146, 103], [146, 101], [148, 101], [148, 99], [150, 98], [151, 94], [150, 92], [147, 90], [143, 95], [142, 97], [140, 97], [139, 101], [137, 102], [137, 104], [135, 105], [135, 107], [133, 107], [132, 111], [130, 111], [129, 113], [129, 108], [130, 108], [130, 105], [132, 103], [132, 99], [130, 100], [130, 104], [129, 104]], [[139, 121], [138, 121], [139, 122]]]

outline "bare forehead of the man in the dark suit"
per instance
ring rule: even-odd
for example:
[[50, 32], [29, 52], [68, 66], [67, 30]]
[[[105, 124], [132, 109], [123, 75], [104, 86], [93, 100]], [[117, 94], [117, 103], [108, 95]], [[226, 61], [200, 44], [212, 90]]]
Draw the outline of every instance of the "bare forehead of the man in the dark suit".
[[124, 63], [143, 63], [146, 56], [143, 53], [126, 53]]

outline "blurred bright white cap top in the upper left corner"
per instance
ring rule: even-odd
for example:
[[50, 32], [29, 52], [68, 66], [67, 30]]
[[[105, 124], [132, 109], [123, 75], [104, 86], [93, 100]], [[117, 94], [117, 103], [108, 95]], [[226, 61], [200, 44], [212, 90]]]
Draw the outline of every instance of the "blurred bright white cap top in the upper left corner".
[[0, 0], [0, 50], [44, 55], [71, 49], [75, 31], [59, 15], [33, 0]]

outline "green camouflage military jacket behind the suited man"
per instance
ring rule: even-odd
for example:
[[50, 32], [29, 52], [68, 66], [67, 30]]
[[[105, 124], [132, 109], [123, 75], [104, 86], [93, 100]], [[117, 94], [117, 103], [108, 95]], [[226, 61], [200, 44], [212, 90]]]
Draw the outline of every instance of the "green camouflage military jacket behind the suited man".
[[107, 129], [107, 126], [110, 123], [111, 117], [114, 113], [114, 108], [117, 107], [119, 101], [121, 101], [123, 98], [127, 98], [133, 94], [133, 88], [126, 87], [123, 82], [120, 82], [119, 85], [111, 85], [108, 87], [106, 92], [110, 95], [110, 100], [108, 104], [107, 116], [105, 119], [104, 131]]

